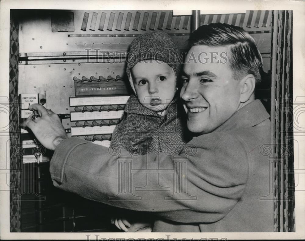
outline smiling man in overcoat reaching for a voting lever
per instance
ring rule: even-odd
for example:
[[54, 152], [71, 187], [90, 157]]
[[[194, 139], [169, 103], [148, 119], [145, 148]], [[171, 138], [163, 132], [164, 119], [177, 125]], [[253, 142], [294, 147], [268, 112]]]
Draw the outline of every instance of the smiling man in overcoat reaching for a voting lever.
[[[199, 27], [189, 44], [180, 96], [196, 137], [179, 156], [115, 154], [67, 138], [57, 115], [39, 105], [30, 108], [41, 117], [26, 124], [55, 150], [50, 172], [56, 187], [149, 211], [154, 232], [273, 232], [269, 160], [260, 151], [270, 143], [270, 120], [254, 96], [262, 71], [257, 46], [241, 28], [221, 23]], [[122, 162], [130, 163], [124, 177], [131, 182], [123, 184], [131, 188], [120, 196]], [[149, 171], [159, 174], [147, 179]]]

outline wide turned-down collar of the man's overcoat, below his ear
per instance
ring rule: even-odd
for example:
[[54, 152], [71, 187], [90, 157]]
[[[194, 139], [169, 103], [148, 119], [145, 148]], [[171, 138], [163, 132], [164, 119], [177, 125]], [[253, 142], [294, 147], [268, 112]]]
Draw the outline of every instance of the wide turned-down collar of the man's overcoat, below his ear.
[[254, 100], [236, 111], [221, 126], [213, 132], [230, 131], [241, 127], [252, 127], [267, 120], [270, 115], [267, 113], [260, 100]]

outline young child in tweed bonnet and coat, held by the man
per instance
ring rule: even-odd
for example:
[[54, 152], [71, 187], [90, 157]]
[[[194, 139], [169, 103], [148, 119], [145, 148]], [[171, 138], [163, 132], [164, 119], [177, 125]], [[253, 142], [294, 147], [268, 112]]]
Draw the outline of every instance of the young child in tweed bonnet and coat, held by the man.
[[[110, 148], [141, 155], [180, 153], [187, 140], [185, 112], [177, 91], [179, 57], [177, 45], [166, 33], [143, 34], [132, 41], [126, 73], [135, 95], [127, 101]], [[126, 232], [135, 229], [151, 232], [145, 218], [138, 222], [130, 220], [117, 218], [115, 225]]]

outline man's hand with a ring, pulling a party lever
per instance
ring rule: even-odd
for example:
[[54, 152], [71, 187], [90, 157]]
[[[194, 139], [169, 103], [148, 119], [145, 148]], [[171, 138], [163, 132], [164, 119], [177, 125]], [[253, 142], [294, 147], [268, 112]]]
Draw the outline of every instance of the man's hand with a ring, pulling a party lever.
[[40, 117], [32, 120], [30, 115], [24, 122], [24, 126], [29, 127], [38, 141], [50, 150], [55, 150], [56, 146], [65, 138], [67, 138], [66, 131], [61, 124], [57, 114], [51, 110], [47, 110], [40, 104], [33, 104], [29, 106], [30, 110], [37, 110]]

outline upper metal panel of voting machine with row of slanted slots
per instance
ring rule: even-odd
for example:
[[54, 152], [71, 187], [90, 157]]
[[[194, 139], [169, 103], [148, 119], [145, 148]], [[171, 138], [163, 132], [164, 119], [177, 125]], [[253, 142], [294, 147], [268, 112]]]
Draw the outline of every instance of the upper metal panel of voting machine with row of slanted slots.
[[[20, 53], [23, 56], [26, 53], [52, 54], [53, 52], [84, 52], [87, 48], [91, 48], [92, 50], [95, 48], [99, 48], [101, 50], [127, 50], [131, 41], [137, 36], [136, 34], [148, 33], [151, 31], [164, 31], [169, 33], [171, 36], [173, 36], [174, 41], [177, 42], [180, 49], [186, 49], [188, 35], [191, 31], [191, 21], [188, 21], [188, 26], [186, 29], [180, 28], [177, 30], [171, 27], [172, 23], [175, 24], [177, 19], [176, 16], [173, 17], [172, 11], [145, 11], [148, 13], [146, 30], [141, 30], [140, 28], [142, 27], [142, 23], [146, 22], [144, 18], [144, 11], [64, 10], [63, 13], [65, 14], [69, 12], [74, 14], [74, 32], [52, 33], [50, 30], [50, 13], [52, 14], [52, 11], [53, 10], [48, 10], [43, 14], [38, 14], [37, 11], [31, 12], [31, 10], [27, 10], [27, 14], [25, 14], [25, 12], [20, 12]], [[57, 10], [57, 12], [58, 11], [59, 10]], [[123, 14], [121, 24], [120, 12]], [[157, 15], [153, 14], [153, 12], [155, 12]], [[95, 19], [96, 14], [96, 21], [99, 23], [96, 23], [95, 26], [92, 24], [91, 26], [91, 20]], [[156, 20], [155, 24], [153, 24], [154, 19], [152, 19], [152, 17], [155, 15]], [[85, 21], [83, 24], [84, 16]], [[182, 16], [182, 20], [183, 18], [184, 16]], [[90, 23], [88, 23], [89, 20]], [[92, 23], [94, 23], [94, 21]], [[166, 24], [165, 29], [164, 23]], [[154, 26], [155, 30], [149, 30], [151, 24]], [[91, 30], [89, 30], [88, 25], [90, 26]], [[116, 26], [120, 25], [120, 29], [117, 28], [118, 30], [116, 30]], [[124, 29], [123, 26], [125, 26]], [[158, 26], [158, 28], [160, 26], [160, 28], [156, 29], [156, 26]], [[161, 30], [162, 26], [163, 30]], [[107, 28], [111, 31], [107, 30]], [[99, 35], [98, 33], [104, 35]], [[183, 35], [185, 37], [179, 37], [179, 35]]]

